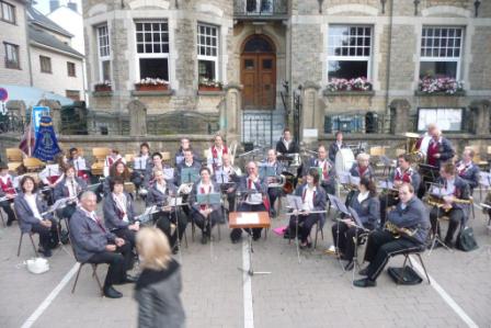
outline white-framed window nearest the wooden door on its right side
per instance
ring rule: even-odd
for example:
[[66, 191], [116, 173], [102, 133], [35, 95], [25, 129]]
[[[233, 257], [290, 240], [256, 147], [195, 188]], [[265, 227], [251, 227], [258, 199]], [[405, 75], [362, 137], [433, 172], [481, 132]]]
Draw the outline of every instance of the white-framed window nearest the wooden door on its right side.
[[329, 26], [329, 79], [370, 79], [372, 27]]

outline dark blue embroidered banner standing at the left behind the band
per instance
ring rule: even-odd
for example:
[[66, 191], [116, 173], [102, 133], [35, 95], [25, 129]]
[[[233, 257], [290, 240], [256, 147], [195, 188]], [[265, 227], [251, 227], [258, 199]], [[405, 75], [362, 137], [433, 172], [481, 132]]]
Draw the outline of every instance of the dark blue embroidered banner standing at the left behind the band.
[[36, 133], [36, 144], [34, 146], [33, 157], [42, 161], [53, 160], [55, 155], [61, 152], [56, 139], [53, 121], [49, 116], [42, 116], [39, 129]]

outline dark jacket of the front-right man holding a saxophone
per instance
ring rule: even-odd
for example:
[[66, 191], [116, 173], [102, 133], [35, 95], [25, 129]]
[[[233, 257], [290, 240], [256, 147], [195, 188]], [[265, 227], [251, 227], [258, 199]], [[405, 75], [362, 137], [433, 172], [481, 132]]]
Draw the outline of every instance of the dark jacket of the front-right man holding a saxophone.
[[399, 228], [416, 229], [413, 239], [420, 244], [426, 242], [430, 231], [430, 215], [423, 202], [414, 195], [402, 210], [402, 203], [399, 202], [396, 208], [390, 211], [387, 219]]

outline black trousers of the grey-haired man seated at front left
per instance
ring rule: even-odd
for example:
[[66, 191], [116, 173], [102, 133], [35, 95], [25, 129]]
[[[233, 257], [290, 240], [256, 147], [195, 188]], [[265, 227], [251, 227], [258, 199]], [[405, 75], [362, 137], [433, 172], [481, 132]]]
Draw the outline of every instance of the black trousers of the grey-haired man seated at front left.
[[126, 271], [132, 268], [133, 253], [128, 244], [117, 247], [116, 251], [102, 251], [93, 255], [88, 263], [110, 264], [104, 280], [104, 287], [113, 284], [122, 284], [126, 279]]

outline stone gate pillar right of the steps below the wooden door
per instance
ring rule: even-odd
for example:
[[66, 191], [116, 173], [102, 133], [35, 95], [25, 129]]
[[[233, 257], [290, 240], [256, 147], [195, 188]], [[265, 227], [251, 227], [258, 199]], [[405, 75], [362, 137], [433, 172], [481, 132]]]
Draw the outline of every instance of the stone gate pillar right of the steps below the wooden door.
[[315, 82], [307, 81], [304, 84], [301, 93], [300, 140], [304, 139], [304, 128], [315, 128], [319, 135], [323, 132], [324, 113], [320, 109], [319, 90], [320, 86]]

